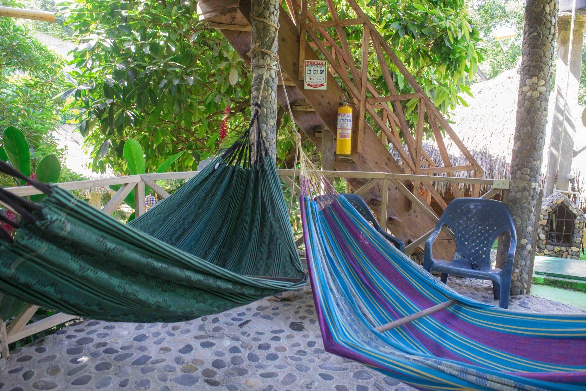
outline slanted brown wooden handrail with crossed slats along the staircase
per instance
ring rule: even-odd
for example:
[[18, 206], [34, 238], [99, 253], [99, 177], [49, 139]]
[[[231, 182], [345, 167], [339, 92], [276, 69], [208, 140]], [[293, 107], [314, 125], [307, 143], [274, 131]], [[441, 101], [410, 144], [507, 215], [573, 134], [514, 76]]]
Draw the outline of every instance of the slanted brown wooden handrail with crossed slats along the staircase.
[[[370, 119], [369, 125], [380, 130], [381, 142], [387, 145], [388, 141], [397, 150], [401, 158], [401, 168], [406, 174], [433, 175], [441, 173], [454, 176], [455, 172], [472, 171], [474, 178], [482, 178], [484, 171], [481, 166], [458, 138], [435, 104], [425, 94], [413, 75], [408, 72], [406, 66], [393, 52], [393, 49], [384, 40], [356, 0], [347, 0], [347, 4], [352, 8], [356, 18], [340, 19], [334, 2], [326, 0], [330, 20], [321, 21], [318, 21], [309, 11], [312, 3], [310, 0], [287, 0], [289, 14], [299, 31], [299, 78], [302, 80], [305, 74], [305, 47], [309, 45], [317, 49], [318, 54], [328, 61], [329, 72], [339, 77], [359, 110], [353, 149], [356, 152], [362, 152], [364, 124]], [[327, 19], [327, 16], [322, 19]], [[356, 25], [362, 26], [362, 43], [358, 59], [360, 67], [357, 66], [357, 61], [350, 50], [345, 30], [349, 26]], [[388, 96], [386, 95], [387, 91], [377, 91], [376, 83], [371, 83], [368, 63], [372, 50], [374, 50], [377, 69], [380, 68], [387, 87]], [[391, 66], [404, 77], [413, 93], [397, 93], [393, 74], [391, 74]], [[378, 77], [379, 75], [374, 76]], [[415, 110], [417, 120], [413, 131], [407, 123], [401, 106], [401, 101], [404, 100], [417, 100]], [[423, 149], [425, 127], [434, 135], [443, 166], [437, 166]], [[468, 164], [452, 166], [441, 128], [445, 131], [445, 137], [451, 138], [459, 151], [462, 152], [462, 155], [468, 160]], [[401, 138], [400, 132], [403, 138]], [[403, 142], [407, 151], [403, 148]], [[421, 178], [415, 181], [411, 186], [412, 192], [417, 192], [420, 188], [424, 189], [428, 195], [428, 203], [431, 198], [434, 198], [440, 208], [445, 209], [447, 203], [431, 185], [431, 181], [435, 181], [435, 177], [434, 179]], [[451, 182], [451, 189], [455, 198], [462, 196], [456, 182]], [[478, 197], [479, 191], [478, 184], [473, 183], [471, 195]]]

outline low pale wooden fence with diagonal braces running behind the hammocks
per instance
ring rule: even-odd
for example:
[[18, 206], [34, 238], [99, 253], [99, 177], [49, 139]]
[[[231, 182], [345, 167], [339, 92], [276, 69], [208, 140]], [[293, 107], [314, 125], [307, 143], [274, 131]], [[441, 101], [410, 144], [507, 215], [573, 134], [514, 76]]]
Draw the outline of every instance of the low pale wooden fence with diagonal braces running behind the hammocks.
[[[299, 176], [299, 171], [294, 171], [291, 169], [279, 169], [277, 170], [280, 178], [285, 182], [286, 185], [293, 187], [293, 195], [299, 195], [299, 186], [297, 185], [297, 178], [293, 178], [293, 175], [296, 177]], [[110, 185], [122, 185], [120, 189], [114, 194], [114, 196], [110, 199], [110, 201], [102, 208], [104, 213], [111, 215], [114, 213], [116, 209], [118, 209], [124, 199], [128, 196], [128, 194], [132, 191], [132, 189], [137, 189], [135, 191], [135, 215], [138, 217], [145, 213], [145, 185], [149, 186], [159, 197], [165, 199], [170, 196], [168, 192], [165, 191], [161, 186], [159, 186], [155, 181], [166, 181], [171, 179], [190, 179], [193, 178], [198, 174], [197, 171], [183, 171], [183, 172], [165, 172], [161, 174], [142, 174], [142, 175], [128, 175], [128, 176], [116, 176], [114, 178], [106, 178], [106, 179], [91, 179], [89, 181], [77, 181], [77, 182], [64, 182], [64, 183], [57, 183], [56, 185], [62, 189], [74, 191], [74, 190], [81, 190], [81, 189], [93, 189], [93, 188], [103, 188], [104, 186]], [[429, 176], [425, 175], [408, 175], [408, 174], [389, 174], [386, 172], [357, 172], [357, 171], [321, 171], [321, 174], [326, 176], [327, 178], [360, 178], [366, 179], [367, 182], [359, 189], [357, 189], [354, 193], [356, 195], [363, 196], [371, 189], [374, 188], [379, 182], [383, 182], [383, 186], [381, 186], [381, 206], [379, 219], [381, 227], [384, 229], [387, 228], [387, 208], [388, 208], [388, 200], [389, 200], [389, 186], [396, 186], [396, 188], [407, 196], [408, 199], [411, 200], [414, 207], [421, 210], [421, 212], [425, 213], [428, 217], [430, 217], [434, 222], [438, 222], [439, 216], [429, 209], [423, 202], [421, 202], [417, 197], [411, 193], [411, 191], [404, 185], [404, 183], [410, 181], [438, 181], [438, 182], [449, 182], [449, 183], [467, 183], [469, 185], [479, 185], [479, 186], [486, 186], [489, 190], [483, 194], [482, 198], [491, 198], [495, 196], [497, 193], [503, 191], [503, 198], [506, 198], [506, 193], [509, 189], [509, 181], [502, 180], [502, 179], [476, 179], [476, 178], [453, 178], [447, 176], [433, 176], [430, 178]], [[41, 192], [34, 188], [33, 186], [19, 186], [14, 188], [6, 188], [7, 191], [19, 195], [19, 196], [30, 196], [35, 194], [40, 194]], [[425, 239], [431, 234], [432, 231], [425, 233], [423, 236], [418, 237], [417, 239], [413, 240], [411, 243], [406, 243], [406, 253], [411, 254], [417, 247], [425, 242]], [[445, 233], [448, 235], [451, 232], [448, 229], [445, 229]], [[299, 246], [302, 242], [302, 239], [297, 241], [297, 245]], [[35, 314], [36, 310], [38, 310], [38, 306], [33, 304], [26, 304], [25, 307], [16, 315], [16, 318], [11, 321], [8, 327], [6, 327], [5, 322], [0, 324], [0, 342], [7, 341], [4, 344], [8, 346], [12, 342], [18, 341], [19, 339], [26, 338], [27, 336], [36, 334], [40, 331], [53, 328], [56, 325], [62, 324], [63, 322], [70, 321], [71, 319], [76, 318], [76, 315], [70, 314], [55, 314], [51, 317], [42, 319], [38, 322], [33, 322], [29, 324], [30, 318]], [[2, 343], [0, 343], [2, 345]], [[8, 355], [7, 347], [4, 346], [4, 349], [1, 349], [3, 346], [0, 346], [0, 352], [2, 352], [2, 356]]]

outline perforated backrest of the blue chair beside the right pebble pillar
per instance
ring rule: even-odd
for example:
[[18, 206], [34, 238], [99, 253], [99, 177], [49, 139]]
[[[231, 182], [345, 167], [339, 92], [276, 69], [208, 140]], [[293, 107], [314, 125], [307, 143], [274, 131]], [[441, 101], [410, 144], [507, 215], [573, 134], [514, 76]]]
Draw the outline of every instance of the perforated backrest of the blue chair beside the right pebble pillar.
[[490, 249], [500, 234], [515, 237], [509, 208], [500, 201], [456, 198], [449, 203], [438, 226], [447, 225], [456, 237], [454, 261], [466, 260], [490, 267]]

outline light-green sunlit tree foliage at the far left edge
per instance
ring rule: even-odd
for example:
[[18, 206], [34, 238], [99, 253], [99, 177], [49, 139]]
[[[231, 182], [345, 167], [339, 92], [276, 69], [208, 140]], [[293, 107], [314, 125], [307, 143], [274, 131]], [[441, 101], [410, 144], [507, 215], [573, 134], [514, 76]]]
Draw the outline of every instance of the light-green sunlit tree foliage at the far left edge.
[[54, 97], [67, 84], [64, 66], [64, 59], [33, 38], [26, 26], [0, 18], [0, 128], [22, 130], [33, 164], [63, 152], [52, 133], [63, 123], [63, 102]]

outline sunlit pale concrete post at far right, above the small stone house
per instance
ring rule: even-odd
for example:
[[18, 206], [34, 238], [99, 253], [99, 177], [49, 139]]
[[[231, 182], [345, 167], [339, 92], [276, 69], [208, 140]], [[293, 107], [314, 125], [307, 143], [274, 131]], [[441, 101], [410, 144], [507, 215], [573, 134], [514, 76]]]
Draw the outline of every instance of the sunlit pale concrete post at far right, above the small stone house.
[[[558, 39], [557, 39], [557, 62], [556, 62], [556, 86], [554, 88], [554, 104], [550, 110], [553, 110], [551, 118], [551, 127], [548, 127], [547, 138], [548, 157], [546, 176], [546, 196], [553, 192], [554, 183], [556, 182], [556, 171], [558, 169], [557, 161], [560, 159], [557, 189], [568, 190], [570, 182], [568, 174], [571, 172], [572, 159], [574, 152], [574, 134], [576, 121], [580, 122], [580, 117], [576, 118], [575, 108], [578, 104], [578, 89], [580, 88], [580, 73], [582, 70], [582, 45], [584, 44], [584, 15], [577, 15], [574, 23], [574, 37], [570, 49], [570, 29], [571, 15], [560, 15], [558, 19]], [[571, 63], [568, 64], [571, 50]], [[570, 67], [569, 80], [568, 66]], [[566, 93], [567, 83], [567, 93]], [[565, 104], [565, 121], [564, 121], [564, 104]], [[563, 125], [565, 122], [565, 125]], [[578, 124], [579, 126], [579, 124]], [[562, 128], [564, 130], [563, 138], [560, 135]], [[559, 149], [559, 151], [558, 151]]]

